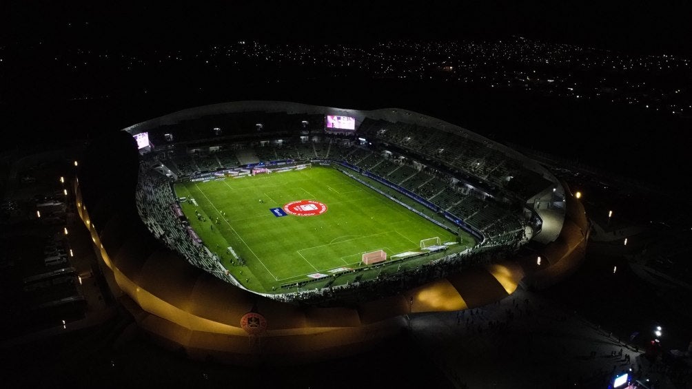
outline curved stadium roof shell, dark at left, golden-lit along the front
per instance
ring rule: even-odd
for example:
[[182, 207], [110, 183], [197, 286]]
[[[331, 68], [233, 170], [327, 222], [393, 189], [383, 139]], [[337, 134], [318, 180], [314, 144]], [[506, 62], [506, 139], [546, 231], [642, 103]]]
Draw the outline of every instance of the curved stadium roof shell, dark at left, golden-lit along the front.
[[[188, 354], [199, 358], [214, 355], [220, 361], [258, 363], [248, 359], [256, 357], [257, 350], [248, 344], [248, 334], [240, 327], [242, 316], [255, 310], [268, 322], [264, 337], [273, 339], [262, 345], [262, 362], [287, 363], [285, 357], [289, 355], [306, 361], [335, 357], [357, 352], [372, 341], [399, 332], [405, 326], [406, 314], [484, 305], [511, 294], [525, 277], [522, 266], [504, 261], [388, 298], [354, 306], [309, 307], [253, 294], [190, 265], [156, 240], [138, 217], [134, 193], [139, 161], [136, 144], [129, 134], [199, 115], [259, 108], [353, 115], [359, 119], [372, 115], [400, 120], [403, 116], [418, 115], [391, 109], [353, 111], [284, 102], [236, 102], [180, 111], [93, 142], [80, 163], [75, 191], [78, 211], [91, 231], [114, 294], [156, 339], [172, 347], [182, 345]], [[424, 120], [421, 117], [417, 120]], [[567, 204], [581, 207], [579, 202]], [[572, 214], [579, 219], [576, 223], [583, 231], [583, 212], [577, 210]], [[571, 235], [561, 240], [561, 251], [556, 253], [569, 256], [585, 245], [580, 228], [567, 231]]]

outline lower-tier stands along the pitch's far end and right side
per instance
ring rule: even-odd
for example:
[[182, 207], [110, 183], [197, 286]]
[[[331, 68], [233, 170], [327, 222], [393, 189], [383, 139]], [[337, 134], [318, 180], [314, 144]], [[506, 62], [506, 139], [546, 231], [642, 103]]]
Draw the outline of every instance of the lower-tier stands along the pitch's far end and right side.
[[[224, 161], [230, 162], [229, 164], [221, 163], [221, 158], [217, 158], [218, 152], [185, 154], [165, 163], [172, 171], [189, 176], [203, 171], [202, 167], [216, 170], [237, 166], [238, 158], [233, 158], [230, 151], [252, 153], [260, 162], [311, 160], [312, 158], [343, 160], [428, 200], [439, 209], [449, 212], [455, 218], [464, 220], [477, 231], [481, 231], [486, 238], [499, 235], [505, 238], [515, 236], [513, 232], [524, 228], [525, 223], [522, 217], [509, 211], [507, 205], [487, 200], [488, 196], [469, 190], [448, 172], [391, 151], [376, 149], [374, 146], [367, 147], [365, 144], [360, 144], [361, 142], [345, 138], [325, 136], [313, 137], [313, 140], [317, 142], [288, 138], [280, 142], [272, 140], [224, 144], [219, 147], [224, 150], [219, 155], [223, 155]], [[508, 231], [512, 234], [508, 234]]]

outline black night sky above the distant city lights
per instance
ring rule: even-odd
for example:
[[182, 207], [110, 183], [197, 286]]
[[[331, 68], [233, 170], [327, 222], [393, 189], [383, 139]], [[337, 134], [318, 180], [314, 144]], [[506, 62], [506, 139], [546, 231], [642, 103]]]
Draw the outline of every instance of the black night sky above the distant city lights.
[[638, 53], [690, 53], [692, 37], [686, 1], [126, 3], [10, 1], [0, 12], [0, 38], [147, 47], [194, 46], [228, 39], [352, 41], [525, 35]]

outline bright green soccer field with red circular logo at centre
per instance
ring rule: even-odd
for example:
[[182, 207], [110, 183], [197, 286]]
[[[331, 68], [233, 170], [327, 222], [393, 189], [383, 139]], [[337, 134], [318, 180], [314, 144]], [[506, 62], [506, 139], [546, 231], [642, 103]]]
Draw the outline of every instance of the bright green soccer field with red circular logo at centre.
[[[206, 247], [256, 292], [280, 292], [281, 285], [329, 276], [330, 270], [365, 266], [364, 252], [383, 249], [389, 261], [394, 254], [420, 251], [422, 239], [457, 242], [456, 234], [327, 167], [181, 182], [175, 191], [194, 199], [181, 207]], [[284, 205], [300, 200], [311, 202], [284, 211]], [[297, 216], [291, 209], [314, 215]], [[454, 251], [474, 243], [461, 234], [464, 244]]]

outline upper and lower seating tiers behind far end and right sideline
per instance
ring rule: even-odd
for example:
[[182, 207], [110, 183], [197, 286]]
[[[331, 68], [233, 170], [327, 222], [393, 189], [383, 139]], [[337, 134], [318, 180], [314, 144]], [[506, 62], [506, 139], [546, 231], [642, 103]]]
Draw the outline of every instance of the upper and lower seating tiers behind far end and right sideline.
[[[301, 117], [307, 118], [305, 120], [308, 124], [298, 120]], [[209, 140], [214, 135], [209, 130], [213, 128], [214, 123], [222, 123], [217, 125], [224, 126], [224, 137]], [[260, 131], [257, 131], [255, 126], [258, 123], [262, 123]], [[313, 127], [319, 129], [323, 126], [320, 115], [315, 117], [289, 114], [260, 115], [259, 113], [218, 115], [218, 117], [208, 118], [202, 124], [195, 123], [194, 126], [188, 126], [179, 131], [184, 124], [186, 123], [181, 122], [176, 125], [179, 127], [176, 129], [163, 126], [160, 128], [160, 133], [153, 135], [154, 138], [163, 139], [165, 131], [176, 131], [174, 144], [184, 147], [184, 149], [179, 148], [176, 153], [183, 153], [183, 150], [185, 153], [176, 154], [167, 162], [167, 166], [174, 173], [193, 175], [200, 171], [221, 167], [239, 167], [253, 158], [260, 162], [300, 161], [312, 158], [343, 160], [398, 184], [403, 189], [408, 189], [437, 205], [439, 209], [448, 211], [459, 220], [464, 220], [477, 231], [481, 231], [489, 244], [509, 245], [516, 242], [519, 236], [518, 231], [524, 228], [522, 218], [505, 209], [503, 205], [482, 200], [477, 197], [477, 194], [468, 193], [468, 189], [464, 189], [462, 193], [460, 189], [463, 187], [457, 187], [456, 180], [453, 180], [450, 173], [439, 171], [435, 165], [426, 161], [423, 161], [424, 164], [417, 164], [415, 156], [422, 154], [428, 160], [437, 161], [440, 166], [448, 167], [451, 172], [459, 171], [463, 176], [480, 179], [494, 187], [508, 189], [519, 196], [529, 196], [540, 191], [541, 187], [545, 187], [543, 177], [523, 169], [520, 161], [508, 158], [501, 151], [494, 149], [490, 143], [412, 124], [365, 119], [358, 129], [363, 136], [393, 144], [401, 151], [410, 151], [408, 155], [399, 155], [394, 151], [384, 152], [377, 146], [370, 146], [372, 147], [370, 148], [338, 135], [311, 135], [310, 141], [306, 141], [301, 134], [309, 133]], [[271, 135], [286, 132], [288, 135], [284, 134], [280, 137]], [[262, 133], [262, 137], [256, 140], [239, 140], [233, 137], [233, 134], [237, 133], [246, 133], [246, 135], [251, 133], [253, 136]], [[204, 151], [205, 149], [215, 151], [208, 152]], [[190, 150], [194, 150], [194, 153], [190, 153]], [[513, 178], [508, 180], [510, 175]], [[462, 176], [460, 175], [459, 178]], [[154, 186], [158, 188], [160, 183]], [[169, 205], [175, 200], [172, 196], [172, 193], [170, 195], [166, 193], [163, 196], [167, 198]], [[156, 234], [173, 234], [170, 231], [170, 223], [165, 228], [162, 225], [162, 222], [153, 223], [152, 231]], [[185, 231], [180, 228], [176, 231], [176, 234], [182, 234], [181, 236], [185, 238]], [[179, 236], [176, 235], [176, 237]], [[180, 247], [180, 249], [194, 256], [201, 255], [195, 251], [194, 245]], [[202, 259], [194, 261], [205, 263]]]

